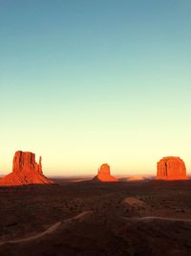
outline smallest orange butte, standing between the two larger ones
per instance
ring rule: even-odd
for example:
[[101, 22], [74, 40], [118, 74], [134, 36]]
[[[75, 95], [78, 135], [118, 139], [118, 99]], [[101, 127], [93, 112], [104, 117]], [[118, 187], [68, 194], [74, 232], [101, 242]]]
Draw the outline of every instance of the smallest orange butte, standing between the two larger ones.
[[98, 174], [96, 175], [96, 180], [101, 182], [115, 182], [117, 178], [110, 175], [110, 166], [108, 164], [102, 164], [98, 169]]

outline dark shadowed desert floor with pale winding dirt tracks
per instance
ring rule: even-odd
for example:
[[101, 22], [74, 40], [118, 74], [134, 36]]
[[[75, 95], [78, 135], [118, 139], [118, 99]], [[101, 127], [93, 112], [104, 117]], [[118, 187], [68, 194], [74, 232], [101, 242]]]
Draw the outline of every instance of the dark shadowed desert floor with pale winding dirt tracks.
[[191, 255], [191, 181], [56, 181], [0, 188], [0, 256]]

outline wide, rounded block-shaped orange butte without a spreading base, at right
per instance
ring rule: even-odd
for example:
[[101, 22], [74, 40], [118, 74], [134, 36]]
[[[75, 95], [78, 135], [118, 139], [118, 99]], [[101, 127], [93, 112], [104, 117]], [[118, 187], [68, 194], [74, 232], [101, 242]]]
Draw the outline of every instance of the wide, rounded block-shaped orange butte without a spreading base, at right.
[[183, 160], [178, 156], [166, 156], [158, 162], [157, 179], [181, 180], [187, 179]]

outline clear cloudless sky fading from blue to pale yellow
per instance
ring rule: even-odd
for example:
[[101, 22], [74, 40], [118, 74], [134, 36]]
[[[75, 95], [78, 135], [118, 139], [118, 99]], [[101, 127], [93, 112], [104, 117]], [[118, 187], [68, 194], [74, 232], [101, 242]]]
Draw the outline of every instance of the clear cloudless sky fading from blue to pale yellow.
[[0, 174], [191, 171], [190, 0], [0, 0]]

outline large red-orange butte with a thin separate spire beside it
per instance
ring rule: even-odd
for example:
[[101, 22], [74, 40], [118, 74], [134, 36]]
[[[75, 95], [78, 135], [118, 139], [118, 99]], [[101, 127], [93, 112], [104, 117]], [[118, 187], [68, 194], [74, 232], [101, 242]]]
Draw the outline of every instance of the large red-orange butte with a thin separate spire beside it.
[[0, 186], [53, 183], [43, 175], [41, 160], [40, 156], [39, 163], [36, 163], [34, 153], [16, 151], [13, 157], [12, 173], [0, 179]]

